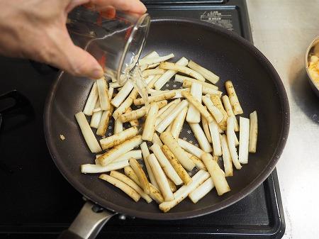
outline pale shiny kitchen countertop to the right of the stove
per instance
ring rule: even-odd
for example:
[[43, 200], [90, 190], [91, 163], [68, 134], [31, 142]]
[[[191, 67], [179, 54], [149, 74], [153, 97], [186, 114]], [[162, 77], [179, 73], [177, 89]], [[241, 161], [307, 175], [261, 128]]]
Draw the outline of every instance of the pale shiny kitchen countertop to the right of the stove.
[[319, 98], [308, 83], [304, 55], [319, 35], [319, 1], [247, 0], [254, 45], [284, 82], [291, 124], [277, 165], [288, 238], [318, 238]]

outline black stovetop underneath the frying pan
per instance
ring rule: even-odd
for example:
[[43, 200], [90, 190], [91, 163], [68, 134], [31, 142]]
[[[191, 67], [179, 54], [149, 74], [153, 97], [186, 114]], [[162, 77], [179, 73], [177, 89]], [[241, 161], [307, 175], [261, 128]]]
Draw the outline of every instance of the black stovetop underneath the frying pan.
[[[146, 2], [153, 17], [198, 18], [252, 41], [245, 1]], [[23, 104], [22, 110], [2, 117], [0, 238], [57, 238], [84, 204], [55, 167], [43, 135], [45, 97], [56, 75], [44, 65], [0, 57], [0, 95], [16, 89], [30, 101], [30, 106]], [[0, 111], [10, 103], [0, 96]], [[184, 221], [113, 217], [98, 238], [281, 238], [284, 230], [274, 170], [252, 194], [227, 209]]]

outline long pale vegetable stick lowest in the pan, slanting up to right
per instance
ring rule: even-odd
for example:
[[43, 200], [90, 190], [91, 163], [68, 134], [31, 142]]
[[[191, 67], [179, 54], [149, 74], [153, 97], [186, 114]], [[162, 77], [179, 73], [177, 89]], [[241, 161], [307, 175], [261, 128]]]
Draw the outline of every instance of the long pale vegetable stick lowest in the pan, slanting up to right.
[[164, 201], [162, 204], [159, 204], [159, 209], [166, 213], [174, 206], [183, 201], [191, 191], [194, 191], [199, 185], [208, 179], [209, 174], [206, 171], [199, 170], [191, 179], [192, 182], [189, 185], [184, 185], [180, 187], [177, 191], [174, 192], [175, 199], [173, 201]]

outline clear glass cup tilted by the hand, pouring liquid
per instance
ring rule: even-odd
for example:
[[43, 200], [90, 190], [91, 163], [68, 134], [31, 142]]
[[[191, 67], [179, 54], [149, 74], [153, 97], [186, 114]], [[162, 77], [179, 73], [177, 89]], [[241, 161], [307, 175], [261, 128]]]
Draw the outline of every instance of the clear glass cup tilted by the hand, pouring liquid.
[[123, 85], [132, 70], [150, 27], [150, 16], [79, 6], [69, 13], [67, 29], [74, 44], [84, 48], [103, 67], [106, 77]]

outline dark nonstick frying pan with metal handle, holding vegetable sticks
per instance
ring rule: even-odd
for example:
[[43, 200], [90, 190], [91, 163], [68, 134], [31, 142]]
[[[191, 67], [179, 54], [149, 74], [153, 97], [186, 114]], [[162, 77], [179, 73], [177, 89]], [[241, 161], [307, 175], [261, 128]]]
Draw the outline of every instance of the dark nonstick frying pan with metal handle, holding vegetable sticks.
[[[186, 18], [157, 18], [151, 23], [142, 55], [152, 50], [157, 50], [159, 55], [174, 52], [174, 60], [184, 56], [213, 70], [220, 76], [217, 85], [224, 92], [225, 81], [231, 79], [244, 116], [257, 110], [257, 152], [250, 154], [247, 165], [235, 170], [233, 177], [228, 177], [231, 191], [223, 196], [210, 193], [197, 204], [186, 199], [167, 213], [159, 211], [155, 203], [135, 203], [97, 175], [80, 173], [80, 165], [92, 163], [94, 155], [84, 142], [74, 113], [84, 108], [93, 82], [62, 72], [47, 97], [45, 138], [60, 172], [88, 202], [61, 238], [94, 238], [115, 213], [157, 220], [213, 213], [250, 194], [264, 182], [279, 160], [289, 132], [289, 103], [279, 75], [257, 48], [236, 33], [210, 23]], [[174, 82], [167, 86], [174, 87]], [[191, 140], [187, 131], [185, 126], [180, 137]], [[60, 134], [65, 135], [66, 140], [60, 140]]]

